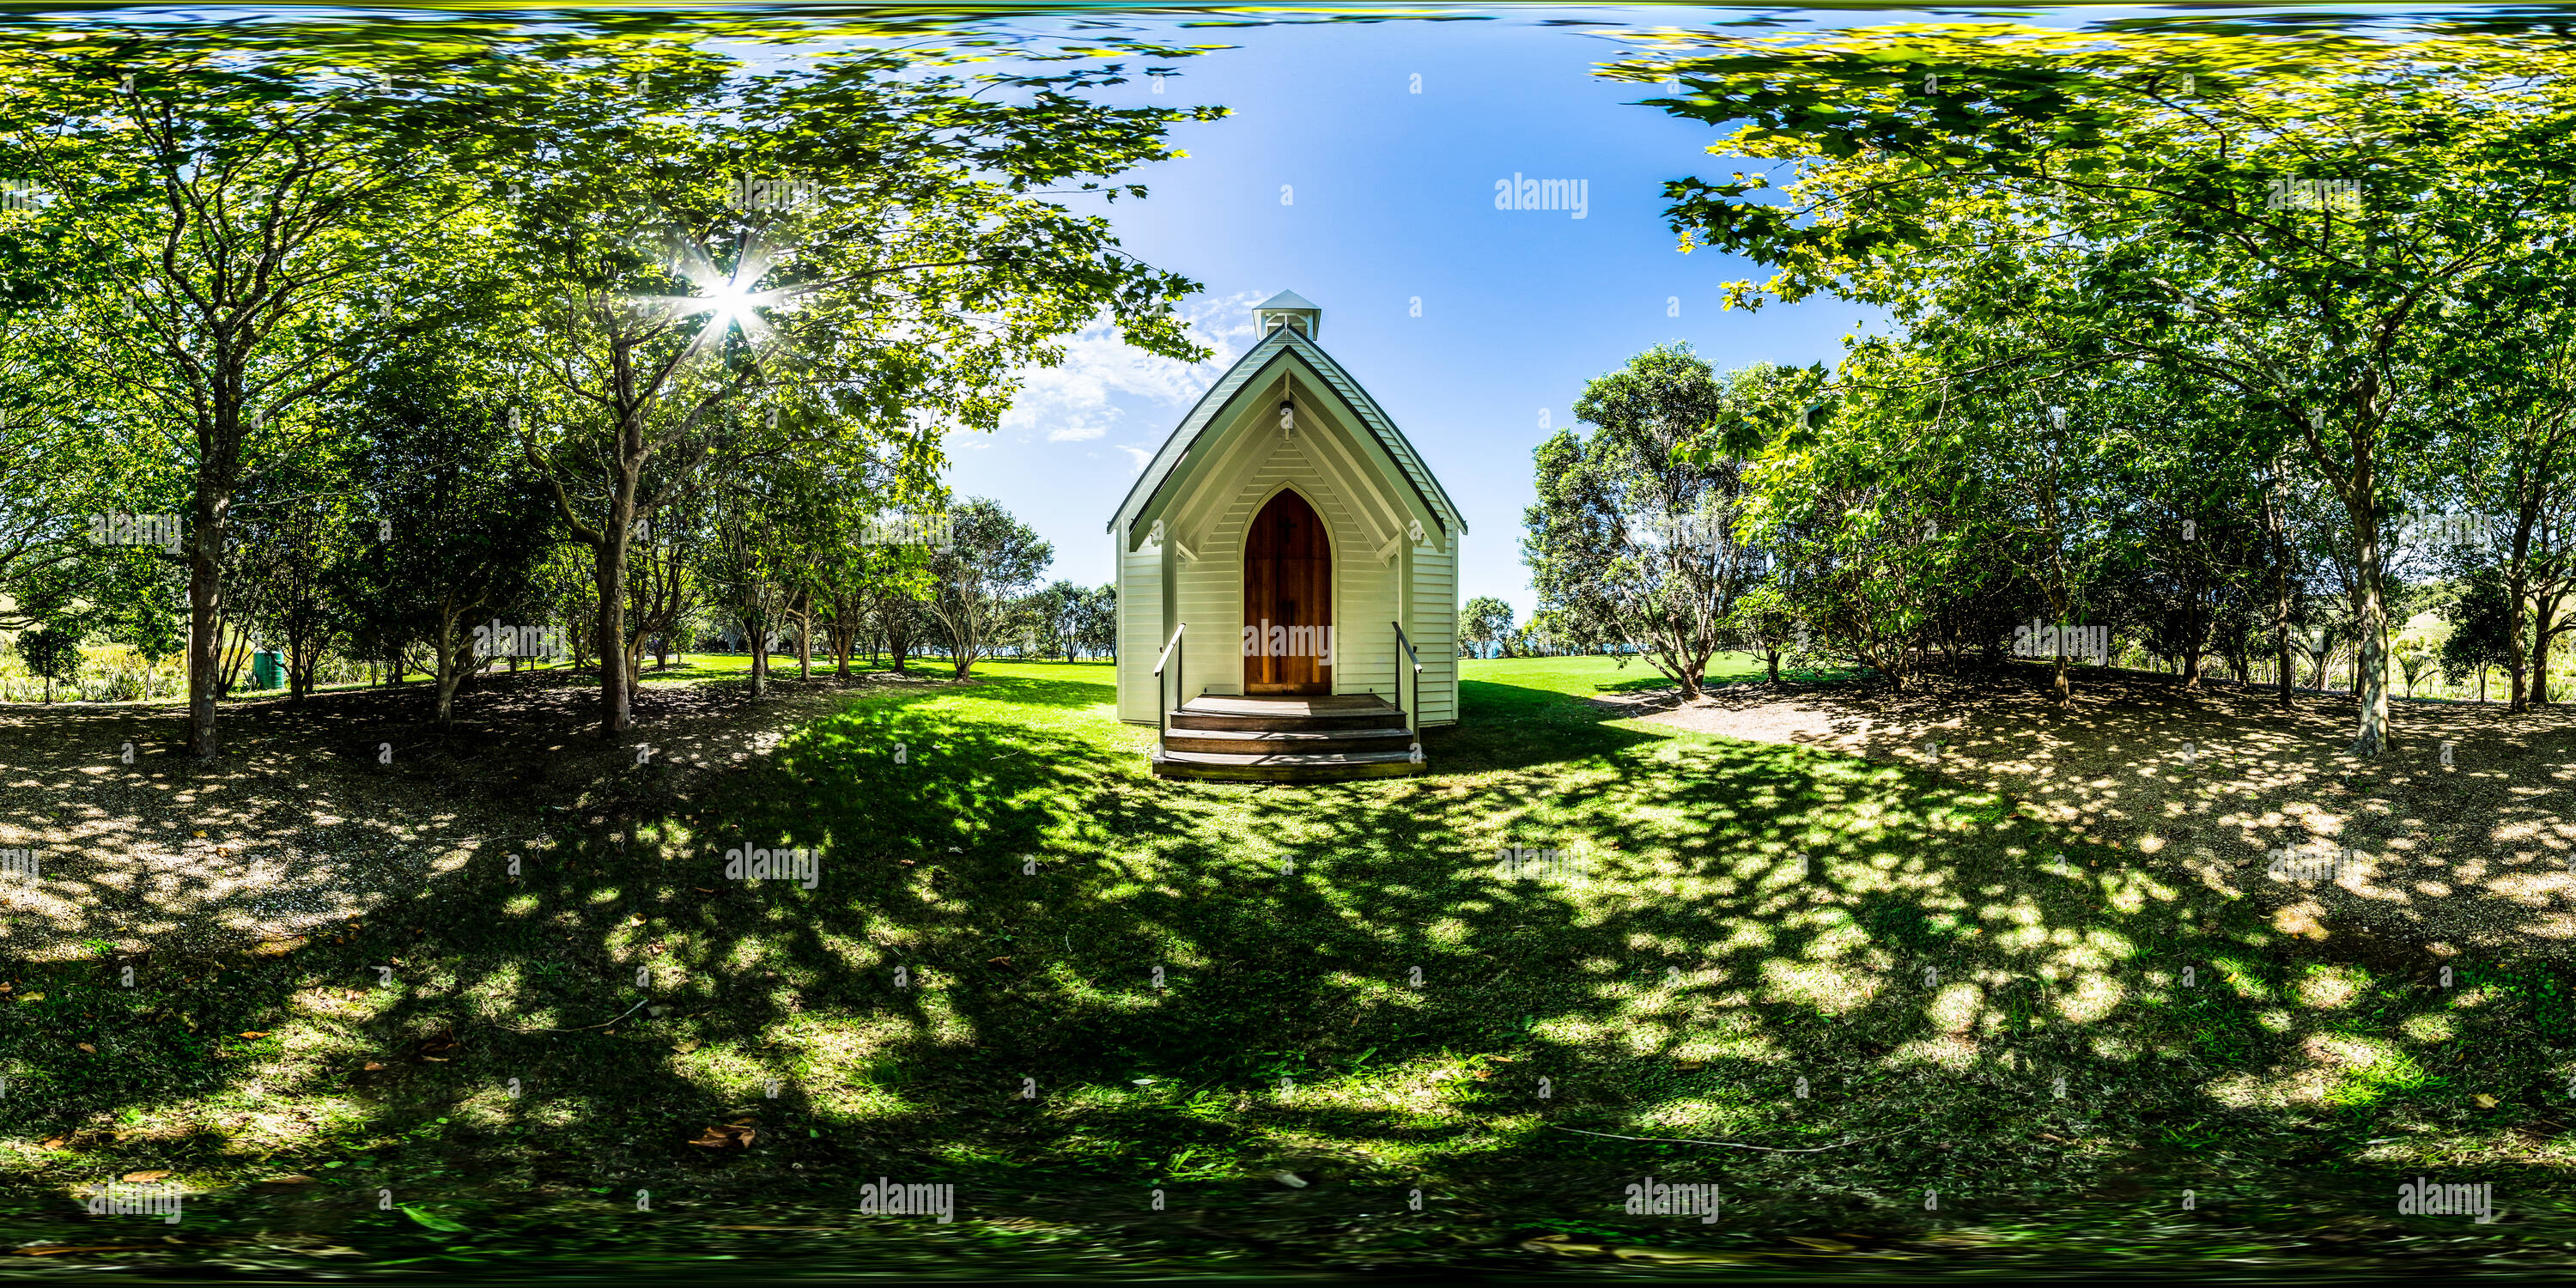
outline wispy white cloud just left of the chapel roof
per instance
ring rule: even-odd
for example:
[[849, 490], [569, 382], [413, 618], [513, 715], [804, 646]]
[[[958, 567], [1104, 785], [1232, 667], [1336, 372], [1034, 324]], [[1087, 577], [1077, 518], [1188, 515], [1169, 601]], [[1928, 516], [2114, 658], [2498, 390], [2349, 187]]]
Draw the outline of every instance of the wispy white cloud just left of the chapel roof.
[[[1255, 337], [1252, 307], [1260, 299], [1244, 291], [1182, 307], [1190, 337], [1211, 350], [1206, 363], [1159, 358], [1121, 340], [1115, 325], [1092, 322], [1064, 337], [1061, 363], [1023, 371], [1020, 394], [1002, 415], [1002, 428], [1043, 428], [1048, 443], [1087, 443], [1126, 417], [1123, 402], [1146, 402], [1157, 412], [1188, 410]], [[1154, 428], [1170, 430], [1170, 425]]]

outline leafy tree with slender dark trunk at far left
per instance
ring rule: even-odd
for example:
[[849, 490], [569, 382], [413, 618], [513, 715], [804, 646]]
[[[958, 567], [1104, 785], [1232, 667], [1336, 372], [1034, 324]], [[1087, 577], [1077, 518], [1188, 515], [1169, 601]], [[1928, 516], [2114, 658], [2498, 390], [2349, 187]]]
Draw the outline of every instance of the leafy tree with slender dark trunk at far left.
[[410, 317], [379, 283], [471, 260], [446, 219], [451, 155], [489, 121], [422, 85], [479, 59], [350, 54], [116, 31], [10, 52], [31, 93], [0, 106], [0, 165], [52, 193], [57, 361], [139, 451], [188, 443], [196, 757], [216, 755], [237, 492], [296, 459], [309, 410], [399, 343]]

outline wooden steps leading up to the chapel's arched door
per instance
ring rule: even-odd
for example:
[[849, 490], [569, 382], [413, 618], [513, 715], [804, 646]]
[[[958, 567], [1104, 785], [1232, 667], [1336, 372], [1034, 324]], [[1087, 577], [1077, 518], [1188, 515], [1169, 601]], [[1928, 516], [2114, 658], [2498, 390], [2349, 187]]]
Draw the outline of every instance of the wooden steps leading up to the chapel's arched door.
[[1414, 732], [1376, 693], [1198, 696], [1164, 714], [1157, 778], [1244, 783], [1340, 783], [1409, 778]]

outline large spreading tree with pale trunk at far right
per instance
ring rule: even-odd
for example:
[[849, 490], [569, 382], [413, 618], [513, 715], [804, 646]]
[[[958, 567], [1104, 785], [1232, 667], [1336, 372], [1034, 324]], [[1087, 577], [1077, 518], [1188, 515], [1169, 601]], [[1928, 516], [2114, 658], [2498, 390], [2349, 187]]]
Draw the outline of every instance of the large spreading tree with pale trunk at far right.
[[[2316, 31], [1914, 26], [1816, 39], [1687, 36], [1618, 75], [1687, 85], [1656, 106], [1741, 121], [1713, 152], [1801, 160], [1667, 185], [1687, 245], [1777, 273], [1734, 301], [1844, 299], [2045, 322], [2061, 371], [2190, 371], [2259, 412], [2344, 510], [2360, 634], [2352, 750], [2388, 739], [2383, 518], [2388, 459], [2421, 433], [2406, 353], [2452, 343], [2442, 309], [2509, 263], [2558, 268], [2576, 160], [2576, 54], [2540, 33], [2372, 41]], [[2460, 175], [2481, 183], [2458, 183]], [[2076, 289], [2020, 281], [2007, 245], [2045, 242]], [[2009, 255], [2007, 255], [2009, 260]], [[1996, 268], [2004, 268], [1996, 273]]]

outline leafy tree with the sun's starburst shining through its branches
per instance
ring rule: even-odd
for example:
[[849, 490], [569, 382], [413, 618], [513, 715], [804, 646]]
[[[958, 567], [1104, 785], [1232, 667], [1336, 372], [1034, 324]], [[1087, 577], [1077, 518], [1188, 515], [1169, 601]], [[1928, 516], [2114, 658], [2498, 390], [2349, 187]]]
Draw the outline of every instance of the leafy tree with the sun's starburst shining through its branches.
[[[507, 167], [528, 191], [510, 232], [536, 322], [526, 453], [592, 551], [603, 737], [631, 721], [616, 652], [629, 533], [701, 471], [989, 430], [1018, 374], [1097, 314], [1149, 353], [1203, 355], [1172, 314], [1195, 283], [1038, 193], [1164, 160], [1172, 121], [1218, 111], [1090, 103], [1115, 64], [953, 72], [974, 59], [868, 46], [737, 77], [636, 41], [546, 72], [544, 142]], [[796, 175], [796, 198], [752, 201], [755, 175]], [[750, 404], [762, 415], [739, 415]]]

